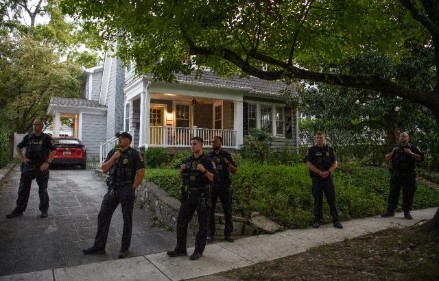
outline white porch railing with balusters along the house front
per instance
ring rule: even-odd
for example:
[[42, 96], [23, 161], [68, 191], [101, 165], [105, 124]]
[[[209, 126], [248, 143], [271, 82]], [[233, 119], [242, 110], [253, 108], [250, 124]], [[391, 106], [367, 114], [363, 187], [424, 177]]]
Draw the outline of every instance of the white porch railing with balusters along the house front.
[[198, 127], [150, 126], [150, 147], [190, 147], [191, 138], [200, 136], [204, 146], [210, 145], [213, 136], [222, 137], [222, 147], [236, 147], [235, 130], [202, 129]]

